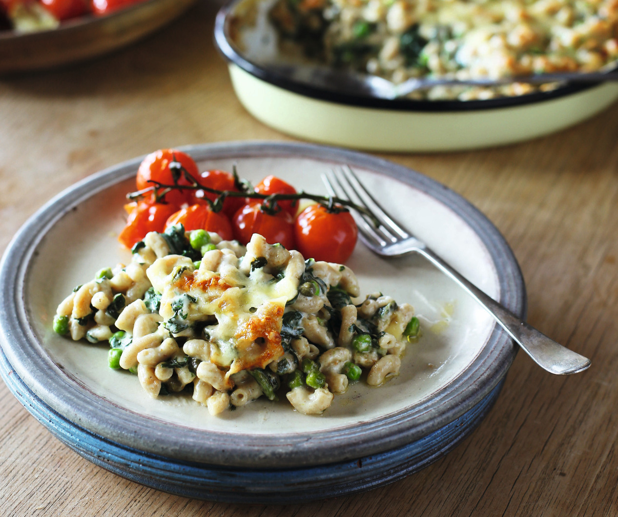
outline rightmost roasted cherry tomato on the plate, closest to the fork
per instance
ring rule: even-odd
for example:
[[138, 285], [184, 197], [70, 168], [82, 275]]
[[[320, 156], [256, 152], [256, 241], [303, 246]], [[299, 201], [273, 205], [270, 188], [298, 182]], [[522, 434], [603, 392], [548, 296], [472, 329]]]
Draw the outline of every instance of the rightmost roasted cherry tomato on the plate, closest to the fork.
[[296, 218], [294, 237], [305, 259], [344, 263], [352, 255], [358, 228], [350, 212], [310, 205]]

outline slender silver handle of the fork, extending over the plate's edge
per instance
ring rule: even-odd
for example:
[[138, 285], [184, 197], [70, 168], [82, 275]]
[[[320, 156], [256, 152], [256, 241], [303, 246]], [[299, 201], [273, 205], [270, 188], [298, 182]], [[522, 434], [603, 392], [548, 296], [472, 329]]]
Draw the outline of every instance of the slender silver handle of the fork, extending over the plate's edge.
[[520, 320], [506, 307], [466, 280], [430, 249], [418, 248], [417, 251], [462, 286], [541, 368], [552, 374], [567, 375], [577, 374], [590, 366], [590, 359], [556, 343], [536, 328]]

